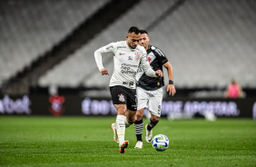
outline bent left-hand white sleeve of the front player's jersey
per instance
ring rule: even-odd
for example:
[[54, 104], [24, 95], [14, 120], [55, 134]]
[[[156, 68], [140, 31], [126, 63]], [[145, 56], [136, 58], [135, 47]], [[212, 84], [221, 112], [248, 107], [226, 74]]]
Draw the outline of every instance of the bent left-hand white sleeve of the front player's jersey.
[[105, 53], [114, 53], [114, 46], [115, 44], [114, 43], [111, 43], [111, 44], [107, 44], [99, 49], [97, 49], [95, 52], [94, 52], [94, 58], [95, 58], [95, 61], [96, 61], [96, 64], [98, 66], [98, 69], [101, 70], [103, 69], [103, 58], [102, 58], [102, 54], [105, 54]]

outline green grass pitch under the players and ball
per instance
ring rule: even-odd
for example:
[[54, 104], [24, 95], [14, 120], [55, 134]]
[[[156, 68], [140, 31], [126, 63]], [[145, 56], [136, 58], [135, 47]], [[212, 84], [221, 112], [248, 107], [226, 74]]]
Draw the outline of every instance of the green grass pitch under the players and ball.
[[[113, 142], [115, 117], [0, 117], [0, 166], [256, 166], [256, 122], [251, 119], [203, 119], [169, 122], [165, 118], [153, 135], [165, 134], [170, 146], [156, 152], [143, 141], [130, 142], [119, 153]], [[147, 120], [143, 121], [144, 124]], [[143, 129], [143, 139], [144, 139]]]

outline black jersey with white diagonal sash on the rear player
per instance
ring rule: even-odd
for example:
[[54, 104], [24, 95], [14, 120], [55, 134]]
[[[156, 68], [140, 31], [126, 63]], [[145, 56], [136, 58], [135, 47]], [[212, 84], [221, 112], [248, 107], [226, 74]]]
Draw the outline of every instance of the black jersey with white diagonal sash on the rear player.
[[[149, 49], [147, 50], [147, 59], [153, 68], [153, 71], [162, 71], [162, 65], [168, 62], [167, 57], [162, 54], [162, 51], [153, 45], [149, 45]], [[164, 85], [163, 77], [150, 77], [146, 75], [141, 65], [136, 75], [136, 80], [137, 86], [149, 91], [159, 89]]]

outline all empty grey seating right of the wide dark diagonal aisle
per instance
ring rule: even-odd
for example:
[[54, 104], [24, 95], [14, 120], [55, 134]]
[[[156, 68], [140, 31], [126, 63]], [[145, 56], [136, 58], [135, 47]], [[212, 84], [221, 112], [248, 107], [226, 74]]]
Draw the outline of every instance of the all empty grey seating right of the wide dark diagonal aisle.
[[[99, 74], [94, 51], [105, 44], [124, 40], [131, 25], [148, 27], [175, 2], [142, 1], [40, 78], [39, 84], [106, 87], [111, 76]], [[255, 5], [254, 1], [190, 0], [172, 15], [165, 16], [159, 25], [154, 25], [149, 32], [151, 44], [168, 56], [177, 87], [225, 87], [232, 77], [243, 87], [256, 87]], [[104, 61], [106, 68], [112, 71], [112, 56], [106, 56]]]

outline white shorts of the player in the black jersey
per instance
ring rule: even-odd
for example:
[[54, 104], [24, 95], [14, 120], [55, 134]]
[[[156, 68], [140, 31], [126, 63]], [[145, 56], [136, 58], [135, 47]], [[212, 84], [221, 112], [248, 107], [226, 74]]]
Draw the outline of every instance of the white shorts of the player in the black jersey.
[[162, 109], [162, 88], [154, 91], [147, 91], [137, 87], [138, 109], [147, 108], [150, 113], [160, 117]]

